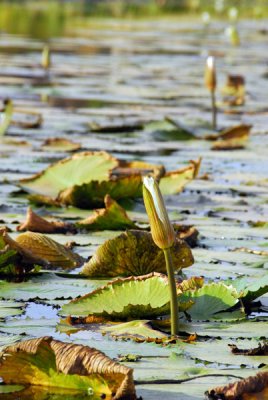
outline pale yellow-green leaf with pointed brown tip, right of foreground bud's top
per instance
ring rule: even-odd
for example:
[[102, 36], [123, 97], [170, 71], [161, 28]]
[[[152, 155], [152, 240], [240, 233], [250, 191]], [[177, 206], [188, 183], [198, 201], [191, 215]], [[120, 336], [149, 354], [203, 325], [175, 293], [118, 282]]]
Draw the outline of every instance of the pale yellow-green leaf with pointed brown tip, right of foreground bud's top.
[[180, 193], [188, 182], [196, 178], [201, 159], [191, 163], [189, 167], [167, 172], [160, 180], [159, 187], [164, 195]]

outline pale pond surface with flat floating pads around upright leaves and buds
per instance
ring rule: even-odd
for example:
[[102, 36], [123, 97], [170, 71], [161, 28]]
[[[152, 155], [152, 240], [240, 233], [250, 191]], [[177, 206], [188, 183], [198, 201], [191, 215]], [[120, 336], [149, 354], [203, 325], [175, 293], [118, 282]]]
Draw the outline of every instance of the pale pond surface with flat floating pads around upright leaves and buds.
[[[34, 28], [27, 32], [26, 28], [18, 27], [17, 33], [1, 31], [0, 106], [1, 101], [9, 98], [18, 119], [22, 118], [19, 113], [28, 111], [42, 115], [40, 126], [29, 129], [12, 123], [5, 140], [1, 139], [1, 225], [7, 226], [11, 237], [16, 238], [16, 227], [25, 220], [29, 206], [25, 195], [14, 195], [18, 190], [16, 182], [69, 155], [44, 149], [42, 144], [47, 139], [70, 139], [79, 143], [82, 150], [105, 150], [123, 160], [160, 163], [167, 171], [202, 157], [199, 177], [181, 194], [166, 197], [170, 218], [180, 224], [194, 225], [199, 231], [197, 246], [192, 250], [195, 263], [186, 270], [186, 275], [204, 276], [206, 281], [240, 276], [265, 279], [267, 20], [239, 21], [239, 46], [233, 46], [226, 36], [226, 21], [215, 20], [208, 26], [192, 17], [148, 21], [76, 17], [73, 26], [70, 21], [55, 23], [58, 30], [43, 36]], [[25, 22], [25, 26], [29, 24]], [[51, 67], [44, 71], [40, 60], [47, 41]], [[216, 58], [219, 129], [252, 125], [244, 148], [213, 150], [213, 142], [203, 139], [211, 133], [210, 96], [203, 83], [208, 55]], [[223, 101], [221, 88], [228, 74], [245, 78], [245, 104], [231, 106]], [[180, 130], [167, 122], [167, 117], [188, 126], [195, 137], [185, 140]], [[99, 132], [93, 129], [96, 124]], [[141, 199], [130, 201], [125, 207], [132, 219], [147, 221]], [[90, 210], [74, 207], [40, 206], [34, 210], [39, 215], [68, 222], [92, 214]], [[52, 237], [62, 244], [75, 241], [75, 250], [88, 258], [106, 239], [118, 234], [104, 231]], [[167, 400], [202, 399], [210, 387], [231, 381], [228, 374], [246, 377], [267, 364], [267, 357], [244, 356], [239, 361], [236, 358], [239, 356], [232, 355], [227, 346], [232, 341], [241, 345], [240, 339], [244, 339], [245, 347], [254, 347], [267, 334], [267, 295], [259, 299], [263, 306], [258, 304], [252, 309], [254, 318], [250, 320], [232, 319], [229, 315], [226, 319], [222, 317], [223, 322], [213, 319], [209, 326], [202, 321], [189, 324], [186, 332], [197, 333], [196, 344], [157, 346], [113, 341], [94, 328], [83, 327], [70, 333], [64, 324], [59, 327], [58, 310], [64, 303], [104, 283], [77, 277], [78, 272], [80, 269], [67, 278], [60, 270], [57, 274], [42, 271], [23, 282], [3, 278], [0, 297], [7, 302], [18, 301], [20, 311], [7, 312], [3, 318], [0, 313], [0, 346], [50, 335], [96, 347], [114, 358], [119, 354], [142, 355], [141, 361], [128, 363], [134, 368], [137, 381], [204, 375], [202, 379], [182, 384], [137, 386], [144, 400], [163, 396]], [[240, 368], [241, 365], [246, 368]], [[222, 376], [210, 376], [219, 371]]]

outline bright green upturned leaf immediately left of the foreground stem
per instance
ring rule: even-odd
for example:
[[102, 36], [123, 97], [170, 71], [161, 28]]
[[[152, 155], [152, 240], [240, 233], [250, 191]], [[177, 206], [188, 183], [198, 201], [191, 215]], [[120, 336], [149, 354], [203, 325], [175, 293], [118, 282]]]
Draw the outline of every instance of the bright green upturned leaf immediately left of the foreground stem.
[[61, 315], [109, 318], [151, 318], [169, 310], [169, 287], [165, 275], [152, 273], [116, 279], [107, 285], [64, 304]]

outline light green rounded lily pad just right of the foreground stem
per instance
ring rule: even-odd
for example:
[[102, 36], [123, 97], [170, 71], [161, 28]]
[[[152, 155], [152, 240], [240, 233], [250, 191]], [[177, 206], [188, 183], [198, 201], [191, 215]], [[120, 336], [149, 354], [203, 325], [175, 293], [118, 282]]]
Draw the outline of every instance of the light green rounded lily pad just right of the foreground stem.
[[237, 302], [237, 292], [224, 283], [209, 283], [194, 291], [182, 294], [181, 301], [192, 300], [193, 306], [188, 313], [194, 319], [206, 320], [214, 314], [227, 310]]

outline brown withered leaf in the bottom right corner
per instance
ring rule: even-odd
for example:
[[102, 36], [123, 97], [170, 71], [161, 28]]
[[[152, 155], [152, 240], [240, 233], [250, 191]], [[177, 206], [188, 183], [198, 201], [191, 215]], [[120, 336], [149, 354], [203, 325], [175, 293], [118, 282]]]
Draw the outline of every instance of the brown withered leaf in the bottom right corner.
[[[210, 400], [243, 400], [243, 395], [248, 393], [259, 393], [268, 387], [268, 372], [259, 372], [255, 376], [219, 386], [209, 390], [206, 395]], [[266, 397], [263, 397], [263, 400]]]

